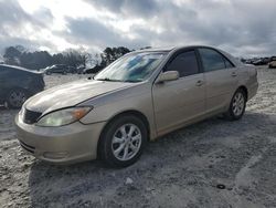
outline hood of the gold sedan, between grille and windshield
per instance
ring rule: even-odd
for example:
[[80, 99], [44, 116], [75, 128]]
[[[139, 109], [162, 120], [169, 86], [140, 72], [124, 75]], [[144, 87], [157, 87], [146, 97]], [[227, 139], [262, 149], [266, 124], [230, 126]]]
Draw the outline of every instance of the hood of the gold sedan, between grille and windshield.
[[79, 80], [43, 91], [25, 103], [24, 107], [43, 114], [77, 105], [96, 96], [130, 87], [137, 83]]

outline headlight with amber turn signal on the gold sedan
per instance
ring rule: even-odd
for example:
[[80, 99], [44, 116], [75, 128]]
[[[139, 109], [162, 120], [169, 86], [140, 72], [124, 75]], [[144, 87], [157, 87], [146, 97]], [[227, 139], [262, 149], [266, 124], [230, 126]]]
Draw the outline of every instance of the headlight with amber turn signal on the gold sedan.
[[70, 107], [49, 113], [41, 117], [38, 126], [64, 126], [84, 117], [92, 107]]

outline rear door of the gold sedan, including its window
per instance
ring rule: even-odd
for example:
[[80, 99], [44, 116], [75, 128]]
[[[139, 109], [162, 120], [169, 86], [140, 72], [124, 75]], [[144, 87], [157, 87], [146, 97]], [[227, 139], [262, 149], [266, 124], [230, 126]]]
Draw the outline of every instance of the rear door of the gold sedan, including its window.
[[237, 87], [238, 71], [219, 51], [211, 48], [198, 50], [206, 82], [206, 113], [223, 111]]

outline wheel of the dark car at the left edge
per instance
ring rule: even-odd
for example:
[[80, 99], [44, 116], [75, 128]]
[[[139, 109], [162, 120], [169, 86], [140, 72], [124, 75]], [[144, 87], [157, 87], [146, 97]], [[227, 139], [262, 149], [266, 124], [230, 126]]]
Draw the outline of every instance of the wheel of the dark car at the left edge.
[[8, 93], [7, 104], [9, 108], [20, 108], [29, 97], [29, 93], [23, 89], [13, 89]]

